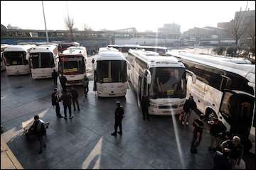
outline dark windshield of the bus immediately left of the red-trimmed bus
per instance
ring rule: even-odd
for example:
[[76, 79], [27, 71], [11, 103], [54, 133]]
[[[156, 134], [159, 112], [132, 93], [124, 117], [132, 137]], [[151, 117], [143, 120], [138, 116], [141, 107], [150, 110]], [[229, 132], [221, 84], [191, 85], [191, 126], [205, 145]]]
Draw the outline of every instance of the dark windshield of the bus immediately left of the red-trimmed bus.
[[31, 53], [31, 62], [33, 69], [54, 67], [53, 54], [50, 52]]

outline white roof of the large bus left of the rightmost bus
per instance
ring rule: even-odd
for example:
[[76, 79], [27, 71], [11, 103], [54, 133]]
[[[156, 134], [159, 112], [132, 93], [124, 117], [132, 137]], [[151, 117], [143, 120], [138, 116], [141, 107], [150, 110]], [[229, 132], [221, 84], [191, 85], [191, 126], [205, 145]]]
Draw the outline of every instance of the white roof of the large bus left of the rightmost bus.
[[129, 52], [147, 62], [149, 67], [166, 67], [167, 64], [171, 67], [185, 67], [184, 64], [178, 62], [176, 57], [164, 57], [159, 55], [158, 52], [132, 49]]

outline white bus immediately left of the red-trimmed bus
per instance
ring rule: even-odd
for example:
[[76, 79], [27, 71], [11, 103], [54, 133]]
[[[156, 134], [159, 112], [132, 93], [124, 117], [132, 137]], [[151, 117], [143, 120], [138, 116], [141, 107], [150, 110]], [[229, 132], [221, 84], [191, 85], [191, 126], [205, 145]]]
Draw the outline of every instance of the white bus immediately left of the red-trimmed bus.
[[58, 71], [58, 46], [38, 45], [31, 49], [29, 61], [32, 79], [51, 78], [53, 69]]

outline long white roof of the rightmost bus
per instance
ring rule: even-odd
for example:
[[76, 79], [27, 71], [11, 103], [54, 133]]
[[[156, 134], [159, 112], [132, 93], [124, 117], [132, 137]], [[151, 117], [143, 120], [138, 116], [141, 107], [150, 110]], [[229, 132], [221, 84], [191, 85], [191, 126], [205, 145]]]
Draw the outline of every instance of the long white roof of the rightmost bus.
[[228, 60], [223, 60], [223, 57], [221, 58], [209, 55], [194, 55], [186, 52], [170, 51], [168, 54], [183, 58], [185, 60], [190, 60], [191, 62], [196, 62], [198, 64], [203, 64], [239, 74], [240, 76], [245, 77], [250, 82], [255, 84], [255, 64], [238, 64], [235, 62], [229, 62]]

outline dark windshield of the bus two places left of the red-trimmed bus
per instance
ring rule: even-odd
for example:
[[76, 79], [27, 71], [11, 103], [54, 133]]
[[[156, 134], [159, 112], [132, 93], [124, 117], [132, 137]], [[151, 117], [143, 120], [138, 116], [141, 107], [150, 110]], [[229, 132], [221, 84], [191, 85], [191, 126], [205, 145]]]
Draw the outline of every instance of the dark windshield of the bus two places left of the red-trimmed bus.
[[6, 65], [24, 65], [28, 64], [26, 60], [26, 52], [4, 52]]

